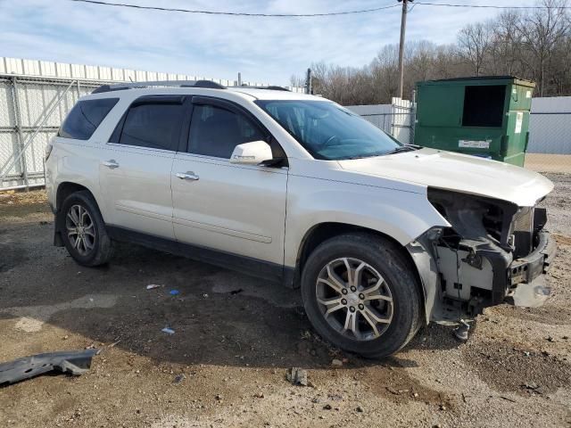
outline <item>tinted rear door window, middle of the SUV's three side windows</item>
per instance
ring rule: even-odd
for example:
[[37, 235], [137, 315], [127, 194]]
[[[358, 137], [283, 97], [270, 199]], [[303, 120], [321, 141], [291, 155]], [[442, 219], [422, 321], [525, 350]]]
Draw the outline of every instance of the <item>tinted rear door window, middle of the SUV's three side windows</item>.
[[120, 134], [113, 135], [119, 134], [119, 144], [176, 151], [183, 115], [181, 103], [135, 104], [124, 118]]

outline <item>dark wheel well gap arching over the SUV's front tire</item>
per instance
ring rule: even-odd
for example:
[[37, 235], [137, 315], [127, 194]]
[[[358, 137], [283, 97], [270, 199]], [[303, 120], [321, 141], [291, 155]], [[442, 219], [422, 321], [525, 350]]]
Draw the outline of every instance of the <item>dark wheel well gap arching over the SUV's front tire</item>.
[[[417, 284], [419, 287], [419, 291], [422, 293], [421, 295], [424, 296], [424, 289], [422, 287], [422, 282], [420, 279], [420, 275], [418, 274], [417, 265], [414, 263], [414, 260], [410, 256], [409, 251], [404, 248], [401, 243], [396, 241], [392, 236], [385, 235], [382, 232], [379, 232], [375, 229], [369, 229], [368, 227], [361, 227], [361, 226], [354, 226], [354, 225], [347, 225], [344, 223], [320, 223], [317, 226], [313, 226], [310, 231], [305, 235], [302, 241], [302, 245], [300, 247], [300, 251], [298, 252], [298, 259], [297, 259], [297, 266], [295, 268], [295, 283], [294, 286], [299, 286], [299, 279], [302, 276], [303, 265], [310, 257], [310, 254], [313, 250], [315, 250], [320, 243], [324, 243], [329, 238], [333, 238], [334, 236], [344, 235], [344, 234], [351, 234], [357, 232], [366, 232], [371, 235], [380, 236], [388, 241], [391, 241], [395, 244], [395, 247], [401, 251], [402, 256], [407, 263], [410, 265], [411, 271], [414, 273], [414, 276], [417, 278]], [[424, 310], [424, 305], [423, 305]]]

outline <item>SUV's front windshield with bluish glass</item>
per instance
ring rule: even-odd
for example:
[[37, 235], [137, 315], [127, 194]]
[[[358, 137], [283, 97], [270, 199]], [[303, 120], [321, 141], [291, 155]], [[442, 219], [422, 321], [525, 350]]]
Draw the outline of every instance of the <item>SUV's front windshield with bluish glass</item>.
[[259, 100], [256, 103], [316, 159], [367, 158], [402, 147], [367, 120], [329, 101]]

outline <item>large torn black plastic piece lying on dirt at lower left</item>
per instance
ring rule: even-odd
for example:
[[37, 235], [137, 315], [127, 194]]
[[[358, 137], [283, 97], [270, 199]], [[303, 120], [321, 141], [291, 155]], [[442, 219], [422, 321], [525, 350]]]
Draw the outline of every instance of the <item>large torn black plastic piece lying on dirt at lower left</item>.
[[91, 358], [98, 353], [99, 350], [95, 349], [49, 352], [2, 363], [0, 364], [0, 386], [17, 383], [52, 371], [79, 376], [89, 370]]

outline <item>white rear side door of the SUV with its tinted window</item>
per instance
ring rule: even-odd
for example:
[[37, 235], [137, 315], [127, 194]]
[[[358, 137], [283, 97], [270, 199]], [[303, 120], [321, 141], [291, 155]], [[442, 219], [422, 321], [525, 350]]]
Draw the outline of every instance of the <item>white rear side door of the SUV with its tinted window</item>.
[[174, 240], [170, 174], [186, 117], [185, 97], [146, 95], [131, 103], [104, 144], [106, 222]]

